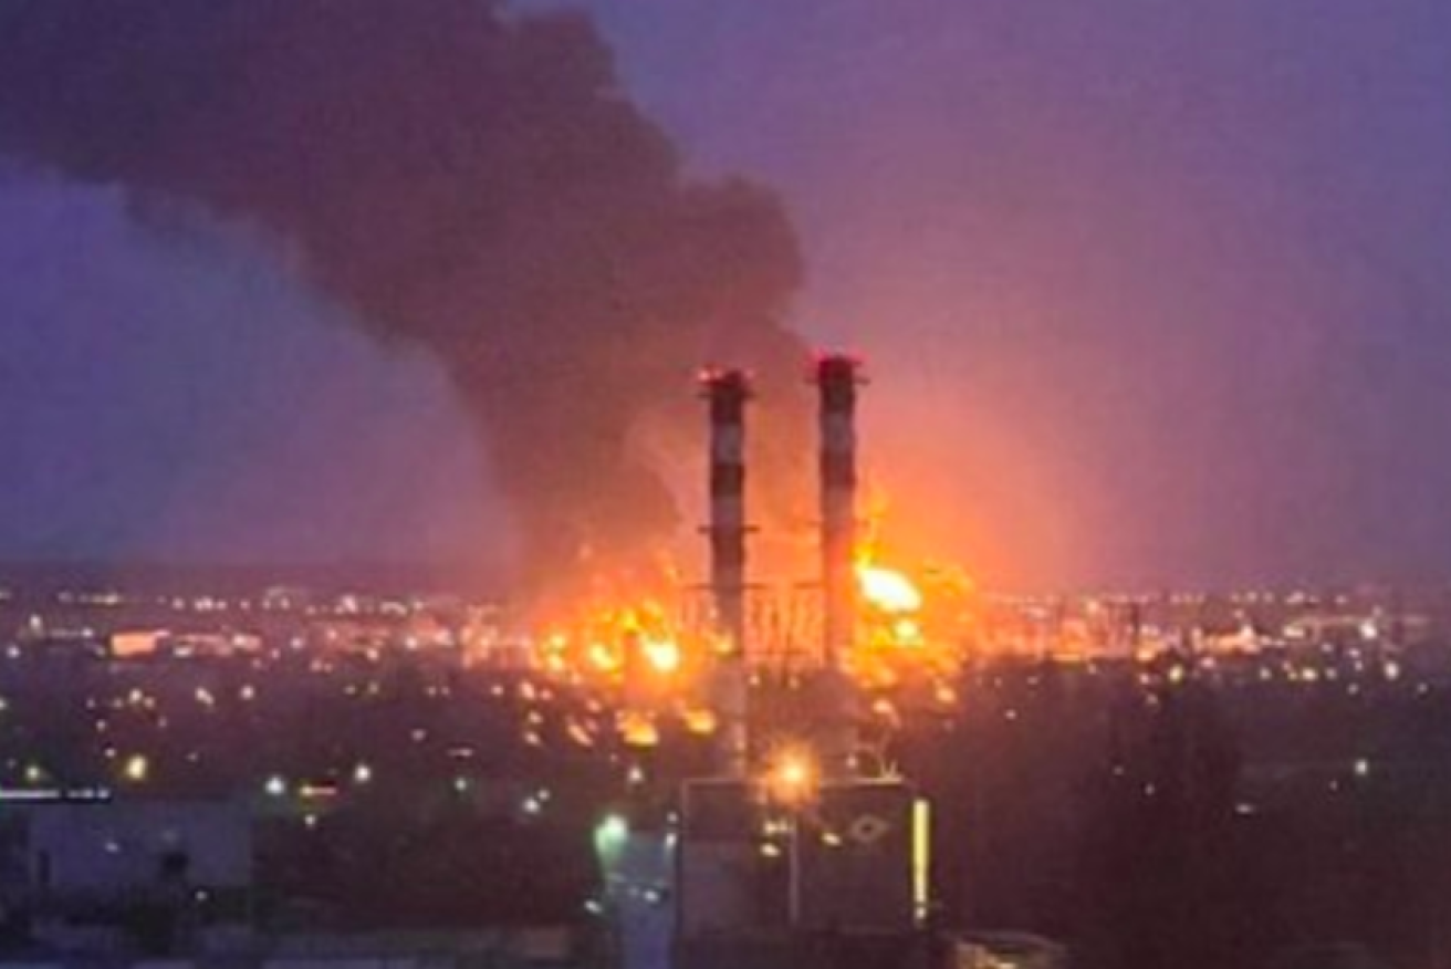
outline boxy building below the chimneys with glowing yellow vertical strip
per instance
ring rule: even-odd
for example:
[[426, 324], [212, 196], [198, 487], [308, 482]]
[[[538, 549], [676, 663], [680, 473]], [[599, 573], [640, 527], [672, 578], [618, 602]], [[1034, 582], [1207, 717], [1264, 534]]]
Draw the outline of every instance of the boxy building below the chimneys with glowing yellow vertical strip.
[[678, 969], [920, 965], [929, 815], [910, 785], [827, 782], [769, 811], [747, 783], [698, 780], [682, 807]]

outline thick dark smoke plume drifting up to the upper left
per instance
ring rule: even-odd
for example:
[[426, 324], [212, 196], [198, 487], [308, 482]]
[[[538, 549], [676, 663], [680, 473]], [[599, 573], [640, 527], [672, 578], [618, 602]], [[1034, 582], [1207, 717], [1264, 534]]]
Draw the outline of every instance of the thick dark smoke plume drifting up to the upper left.
[[791, 464], [792, 229], [759, 186], [686, 178], [579, 16], [0, 0], [0, 154], [257, 226], [360, 325], [429, 348], [535, 569], [675, 527], [640, 441], [694, 431], [702, 361], [757, 370]]

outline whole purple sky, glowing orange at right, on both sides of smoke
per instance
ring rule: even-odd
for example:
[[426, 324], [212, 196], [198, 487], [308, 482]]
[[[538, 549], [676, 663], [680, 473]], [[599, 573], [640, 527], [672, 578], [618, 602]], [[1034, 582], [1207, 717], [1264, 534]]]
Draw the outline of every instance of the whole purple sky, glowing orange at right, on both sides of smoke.
[[[785, 197], [903, 554], [1451, 574], [1444, 3], [585, 6], [694, 171]], [[247, 239], [0, 178], [0, 557], [501, 554], [437, 368], [335, 316]]]

